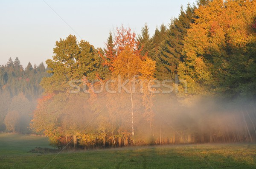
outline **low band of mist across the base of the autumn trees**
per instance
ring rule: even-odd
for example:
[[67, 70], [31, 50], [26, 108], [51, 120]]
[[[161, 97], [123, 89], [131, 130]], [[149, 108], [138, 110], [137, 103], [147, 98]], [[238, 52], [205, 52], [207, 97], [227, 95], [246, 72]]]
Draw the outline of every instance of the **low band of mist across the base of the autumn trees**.
[[125, 90], [44, 96], [34, 112], [32, 128], [44, 132], [58, 147], [243, 143], [256, 139], [253, 101], [225, 101], [220, 96], [184, 100], [175, 93], [134, 92], [132, 97], [133, 104], [131, 93]]

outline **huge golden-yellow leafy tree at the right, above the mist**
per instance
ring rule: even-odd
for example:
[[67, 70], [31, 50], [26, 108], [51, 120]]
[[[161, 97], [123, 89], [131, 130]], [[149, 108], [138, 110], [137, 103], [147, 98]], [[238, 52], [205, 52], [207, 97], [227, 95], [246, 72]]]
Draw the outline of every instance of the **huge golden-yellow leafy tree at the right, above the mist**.
[[255, 42], [250, 26], [255, 6], [255, 1], [214, 0], [195, 10], [195, 23], [184, 42], [184, 62], [178, 66], [190, 94], [252, 94], [247, 84], [255, 82], [248, 71], [255, 66], [255, 57], [249, 54]]

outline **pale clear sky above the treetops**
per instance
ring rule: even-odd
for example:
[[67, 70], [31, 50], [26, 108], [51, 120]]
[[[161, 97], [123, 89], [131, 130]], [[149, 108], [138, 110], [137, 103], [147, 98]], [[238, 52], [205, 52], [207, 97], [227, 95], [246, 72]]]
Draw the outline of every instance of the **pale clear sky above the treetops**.
[[180, 6], [196, 0], [0, 0], [0, 65], [9, 57], [39, 65], [52, 59], [52, 49], [69, 34], [104, 48], [109, 31], [122, 24], [136, 34], [148, 24], [168, 25]]

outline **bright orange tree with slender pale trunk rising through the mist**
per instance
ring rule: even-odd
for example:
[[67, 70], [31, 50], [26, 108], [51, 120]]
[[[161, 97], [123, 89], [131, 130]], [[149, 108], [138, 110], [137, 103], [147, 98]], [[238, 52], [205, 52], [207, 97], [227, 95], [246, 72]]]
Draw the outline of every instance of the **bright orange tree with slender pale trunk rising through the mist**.
[[[152, 126], [153, 112], [151, 110], [151, 93], [147, 90], [147, 83], [140, 83], [154, 79], [155, 61], [150, 59], [147, 54], [141, 55], [142, 48], [139, 49], [139, 42], [136, 34], [131, 32], [131, 28], [116, 28], [113, 48], [107, 48], [105, 55], [101, 55], [105, 65], [112, 72], [111, 78], [118, 79], [116, 83], [125, 84], [116, 95], [122, 97], [122, 101], [127, 104], [128, 111], [131, 113], [131, 144], [134, 144], [134, 113], [141, 107], [140, 99], [144, 106], [144, 115], [150, 116], [150, 126]], [[108, 46], [109, 47], [109, 44]], [[143, 95], [140, 93], [143, 88]], [[124, 97], [125, 95], [129, 95]], [[122, 96], [121, 96], [122, 95]], [[125, 99], [124, 99], [125, 98]], [[116, 102], [115, 102], [116, 104]], [[113, 107], [113, 106], [112, 106]], [[113, 111], [113, 110], [109, 110]], [[141, 110], [140, 110], [141, 111]], [[122, 132], [122, 131], [121, 131]], [[123, 132], [124, 133], [124, 132]], [[127, 142], [127, 141], [126, 141]]]

